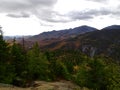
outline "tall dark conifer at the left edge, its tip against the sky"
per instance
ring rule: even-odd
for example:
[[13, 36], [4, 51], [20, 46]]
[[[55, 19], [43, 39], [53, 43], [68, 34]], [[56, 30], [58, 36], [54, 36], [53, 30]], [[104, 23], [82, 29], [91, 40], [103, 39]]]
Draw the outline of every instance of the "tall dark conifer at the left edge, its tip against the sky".
[[9, 45], [3, 40], [3, 33], [0, 27], [0, 83], [12, 83], [14, 67], [11, 65]]

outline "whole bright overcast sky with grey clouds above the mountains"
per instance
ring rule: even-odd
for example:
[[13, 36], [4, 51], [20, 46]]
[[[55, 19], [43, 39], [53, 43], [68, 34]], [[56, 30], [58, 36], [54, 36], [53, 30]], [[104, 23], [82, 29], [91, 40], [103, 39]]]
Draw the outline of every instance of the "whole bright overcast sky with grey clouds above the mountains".
[[120, 0], [0, 0], [0, 25], [7, 36], [119, 24]]

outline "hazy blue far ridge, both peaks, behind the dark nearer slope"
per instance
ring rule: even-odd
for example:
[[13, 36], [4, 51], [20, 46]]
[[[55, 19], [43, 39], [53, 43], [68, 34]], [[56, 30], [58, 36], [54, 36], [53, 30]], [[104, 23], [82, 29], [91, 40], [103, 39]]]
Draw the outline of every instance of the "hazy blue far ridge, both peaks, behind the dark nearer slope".
[[[120, 25], [111, 25], [108, 27], [105, 27], [101, 30], [118, 30], [120, 29]], [[59, 39], [59, 40], [64, 40], [68, 38], [74, 38], [77, 35], [82, 35], [88, 32], [93, 32], [93, 31], [98, 31], [98, 29], [90, 26], [79, 26], [75, 28], [70, 28], [70, 29], [64, 29], [64, 30], [53, 30], [49, 32], [43, 32], [38, 35], [34, 35], [30, 37], [28, 40], [33, 40], [33, 41], [41, 41], [41, 40], [51, 40], [51, 39]]]

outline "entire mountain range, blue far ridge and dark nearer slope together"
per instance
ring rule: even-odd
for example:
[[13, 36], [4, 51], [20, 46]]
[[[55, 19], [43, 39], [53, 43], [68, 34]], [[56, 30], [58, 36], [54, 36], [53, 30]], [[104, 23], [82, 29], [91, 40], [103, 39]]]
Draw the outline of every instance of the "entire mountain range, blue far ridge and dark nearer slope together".
[[[101, 30], [90, 26], [43, 32], [25, 39], [26, 47], [38, 42], [42, 50], [79, 50], [91, 57], [104, 54], [120, 59], [120, 25]], [[22, 41], [20, 42], [22, 43]]]

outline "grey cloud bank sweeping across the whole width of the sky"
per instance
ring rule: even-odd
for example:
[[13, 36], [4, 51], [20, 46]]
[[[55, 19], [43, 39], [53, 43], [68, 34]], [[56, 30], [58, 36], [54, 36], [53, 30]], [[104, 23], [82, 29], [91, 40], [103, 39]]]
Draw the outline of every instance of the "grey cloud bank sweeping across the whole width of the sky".
[[[82, 0], [81, 0], [82, 1]], [[106, 2], [109, 0], [86, 0], [90, 2]], [[66, 23], [75, 20], [89, 20], [103, 15], [120, 15], [120, 7], [99, 7], [99, 9], [88, 9], [83, 11], [70, 11], [66, 14], [60, 14], [54, 11], [54, 5], [57, 0], [0, 0], [0, 12], [6, 13], [13, 18], [29, 18], [35, 15], [40, 20], [51, 23]], [[68, 2], [69, 4], [69, 2]]]

